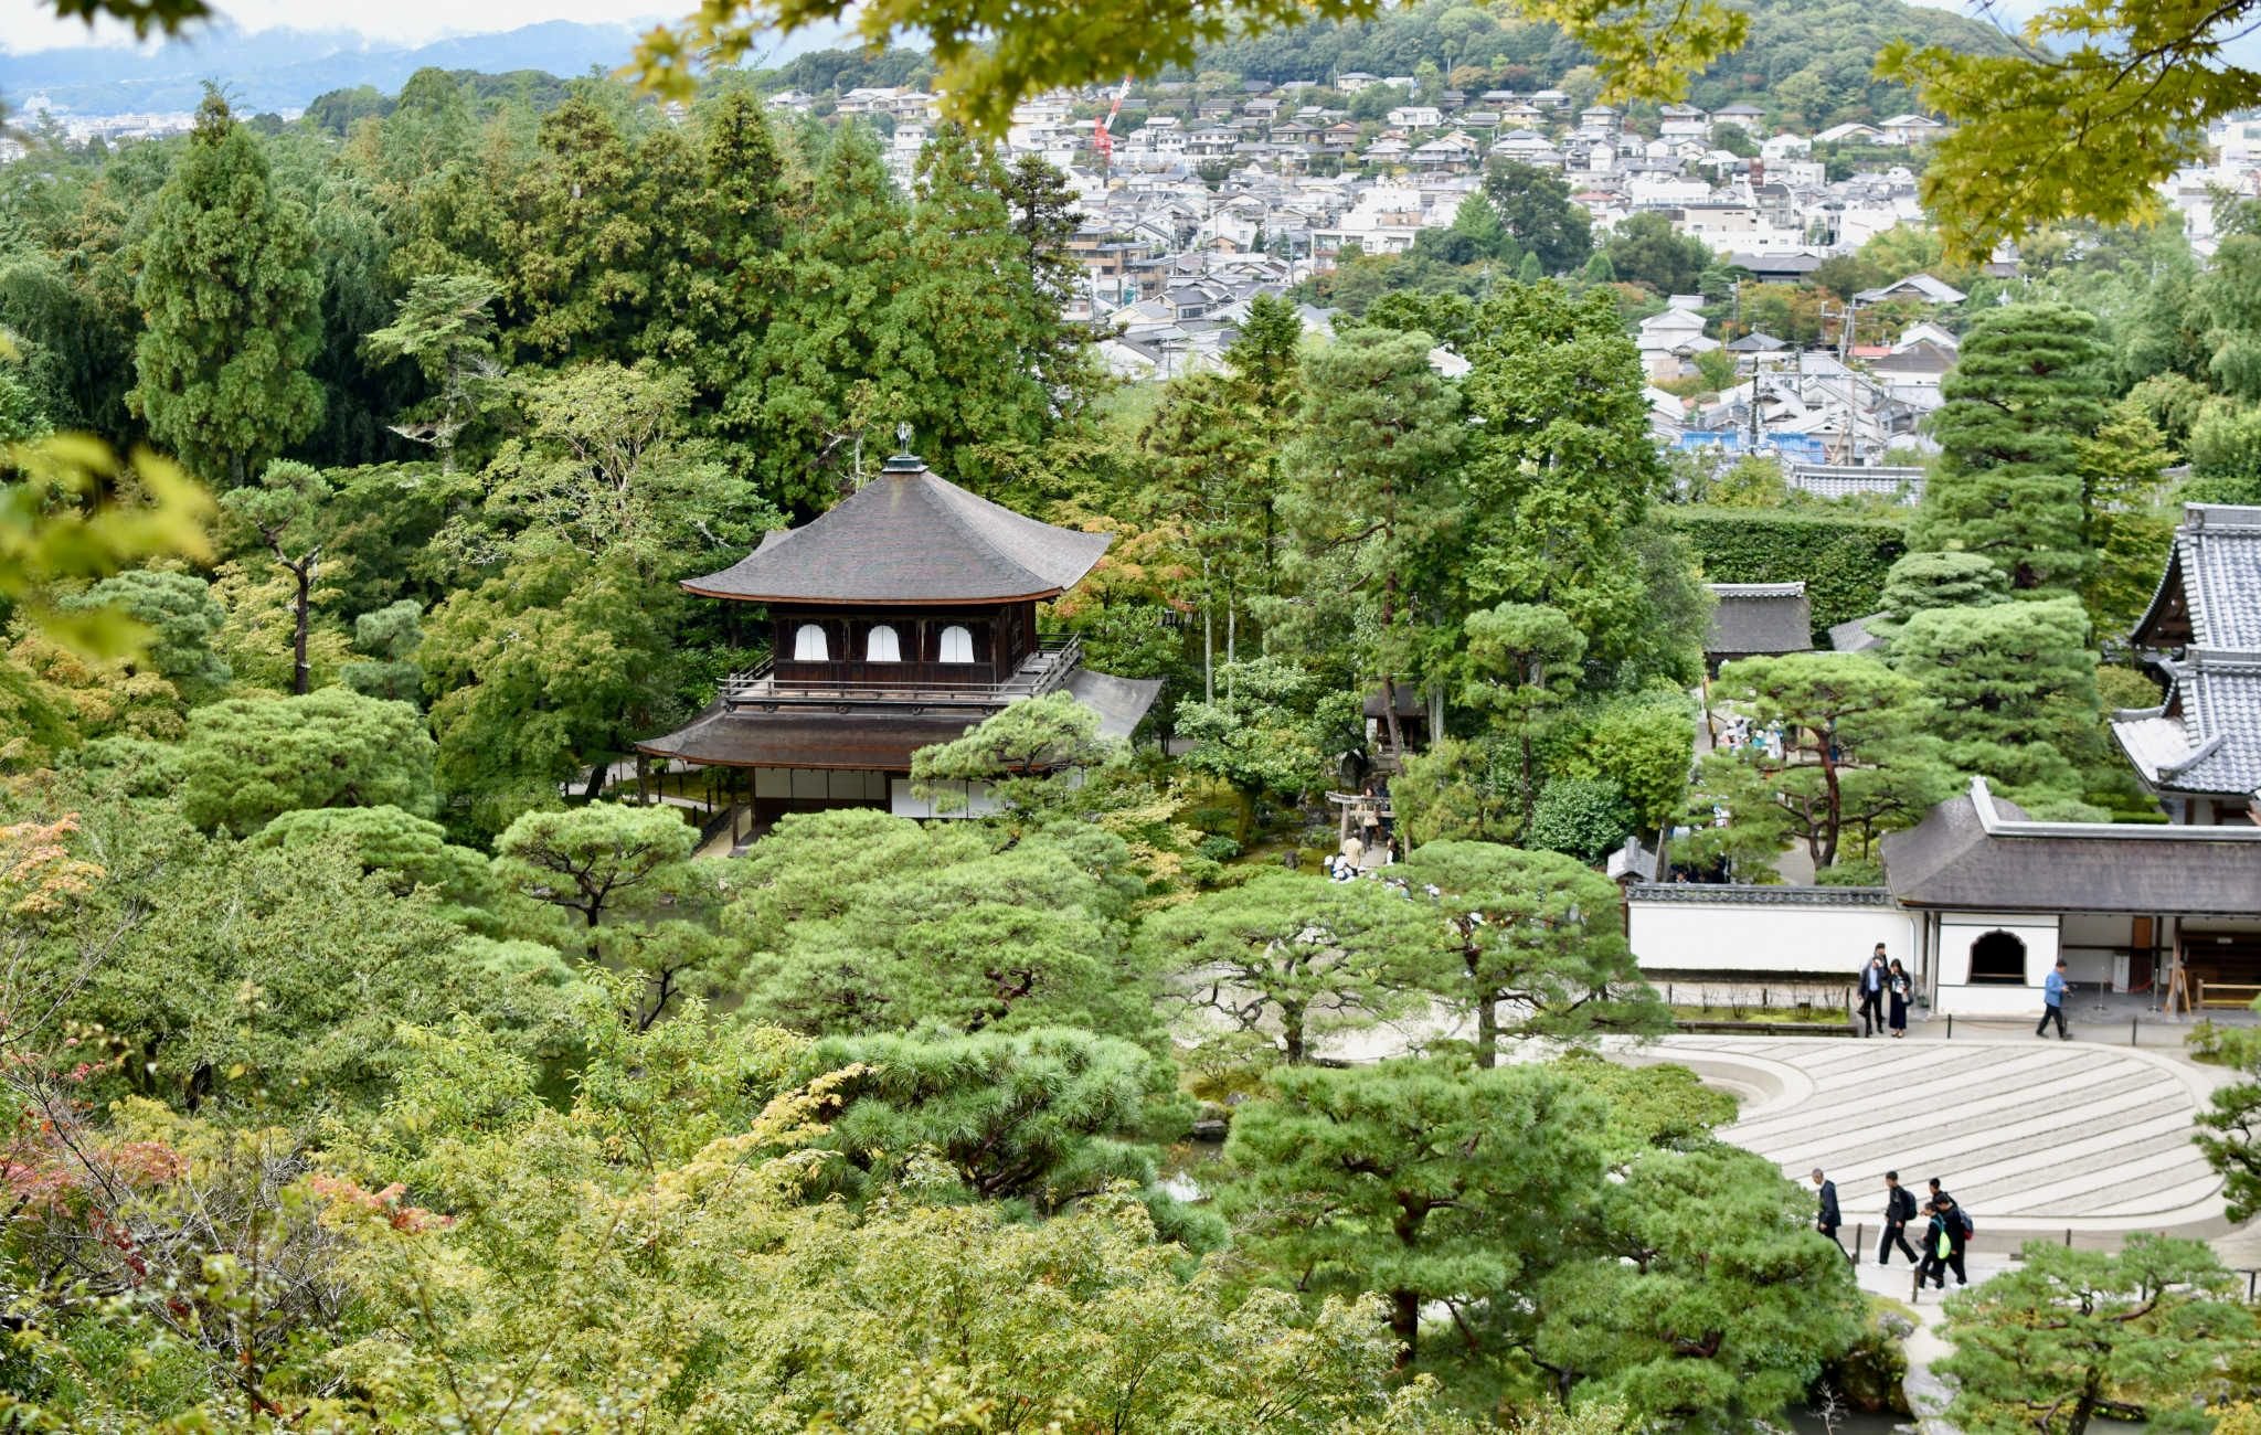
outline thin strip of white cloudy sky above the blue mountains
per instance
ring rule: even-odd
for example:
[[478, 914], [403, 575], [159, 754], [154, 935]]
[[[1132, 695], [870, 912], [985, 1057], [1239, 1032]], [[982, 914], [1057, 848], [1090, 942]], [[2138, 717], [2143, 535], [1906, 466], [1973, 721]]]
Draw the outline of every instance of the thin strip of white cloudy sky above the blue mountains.
[[[1974, 11], [1974, 0], [1915, 0], [1940, 9]], [[1992, 9], [2017, 20], [2042, 0], [1994, 0]], [[432, 41], [443, 34], [516, 29], [536, 20], [649, 20], [692, 9], [687, 0], [217, 0], [219, 14], [244, 29], [357, 29], [384, 41]], [[0, 47], [47, 50], [57, 45], [129, 43], [131, 34], [109, 23], [93, 34], [77, 20], [57, 20], [36, 0], [0, 0]]]

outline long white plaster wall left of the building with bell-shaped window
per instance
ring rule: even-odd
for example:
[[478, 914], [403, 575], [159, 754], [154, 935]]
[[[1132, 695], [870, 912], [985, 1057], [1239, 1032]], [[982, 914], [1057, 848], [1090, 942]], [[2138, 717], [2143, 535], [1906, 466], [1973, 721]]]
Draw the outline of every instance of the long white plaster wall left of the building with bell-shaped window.
[[1915, 967], [1915, 917], [1890, 906], [1632, 902], [1632, 954], [1648, 972], [1840, 972], [1877, 942]]

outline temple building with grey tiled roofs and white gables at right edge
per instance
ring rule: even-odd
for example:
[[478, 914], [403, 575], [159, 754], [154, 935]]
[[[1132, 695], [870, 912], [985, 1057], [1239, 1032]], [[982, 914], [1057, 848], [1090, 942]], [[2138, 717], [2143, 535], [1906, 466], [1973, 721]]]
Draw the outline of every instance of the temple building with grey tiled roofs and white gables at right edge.
[[2130, 635], [2166, 678], [2112, 734], [2175, 823], [2247, 823], [2261, 789], [2261, 508], [2184, 504], [2166, 574]]

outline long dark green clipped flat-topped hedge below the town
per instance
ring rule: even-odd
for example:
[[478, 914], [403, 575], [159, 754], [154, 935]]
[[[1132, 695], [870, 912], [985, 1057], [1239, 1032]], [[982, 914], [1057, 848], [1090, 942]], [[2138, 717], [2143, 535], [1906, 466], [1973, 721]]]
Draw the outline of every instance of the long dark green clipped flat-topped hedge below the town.
[[1666, 508], [1687, 536], [1705, 583], [1791, 583], [1804, 579], [1813, 642], [1829, 628], [1877, 612], [1883, 574], [1908, 551], [1904, 518], [1836, 518], [1782, 508]]

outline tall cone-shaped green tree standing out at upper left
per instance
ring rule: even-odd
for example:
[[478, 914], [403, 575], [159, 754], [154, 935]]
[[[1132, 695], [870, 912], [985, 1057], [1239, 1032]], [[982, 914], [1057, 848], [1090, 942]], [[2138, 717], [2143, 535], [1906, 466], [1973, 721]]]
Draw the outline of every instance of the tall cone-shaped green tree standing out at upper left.
[[314, 231], [276, 194], [260, 142], [217, 90], [140, 246], [147, 328], [129, 402], [197, 472], [244, 484], [321, 420]]

